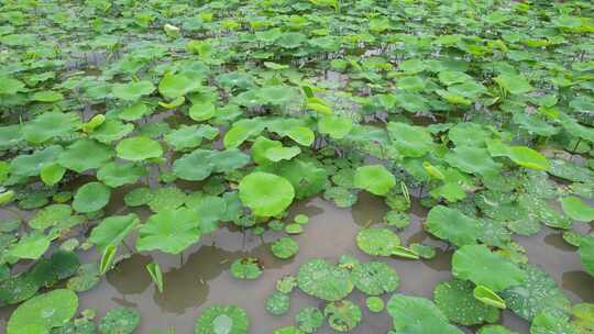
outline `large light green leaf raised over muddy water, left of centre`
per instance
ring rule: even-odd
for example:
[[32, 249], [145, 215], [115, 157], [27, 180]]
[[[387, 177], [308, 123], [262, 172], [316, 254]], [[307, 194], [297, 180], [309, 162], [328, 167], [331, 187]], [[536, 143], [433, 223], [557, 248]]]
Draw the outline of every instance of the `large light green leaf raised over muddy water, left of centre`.
[[136, 249], [179, 254], [200, 240], [198, 225], [198, 215], [193, 210], [179, 208], [161, 211], [151, 215], [140, 229]]

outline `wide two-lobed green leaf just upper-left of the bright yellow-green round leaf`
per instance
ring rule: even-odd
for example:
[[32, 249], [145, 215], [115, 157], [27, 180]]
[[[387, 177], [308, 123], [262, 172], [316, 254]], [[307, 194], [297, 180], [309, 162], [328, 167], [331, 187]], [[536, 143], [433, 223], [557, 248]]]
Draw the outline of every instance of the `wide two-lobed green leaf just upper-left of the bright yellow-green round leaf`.
[[248, 165], [250, 157], [237, 148], [208, 151], [198, 148], [175, 160], [173, 172], [180, 179], [199, 181], [212, 172], [229, 172]]

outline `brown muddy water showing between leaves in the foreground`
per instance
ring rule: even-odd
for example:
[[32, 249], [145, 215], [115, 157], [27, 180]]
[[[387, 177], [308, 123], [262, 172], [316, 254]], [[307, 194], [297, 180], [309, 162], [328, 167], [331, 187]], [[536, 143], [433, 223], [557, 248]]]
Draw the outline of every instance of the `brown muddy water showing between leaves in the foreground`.
[[[358, 249], [354, 240], [361, 226], [380, 223], [386, 211], [378, 198], [362, 194], [351, 209], [338, 209], [320, 198], [300, 202], [290, 210], [290, 216], [304, 213], [310, 216], [305, 232], [297, 235], [300, 250], [288, 260], [274, 258], [270, 244], [283, 233], [268, 231], [255, 236], [241, 230], [222, 227], [205, 236], [200, 244], [180, 256], [161, 253], [135, 254], [118, 264], [103, 281], [91, 291], [80, 294], [80, 310], [90, 308], [102, 316], [107, 310], [123, 305], [141, 312], [142, 324], [138, 333], [153, 330], [165, 332], [175, 329], [177, 334], [193, 333], [196, 316], [215, 303], [232, 303], [248, 310], [252, 319], [250, 333], [272, 333], [275, 329], [294, 323], [294, 316], [304, 307], [323, 308], [323, 302], [297, 291], [292, 294], [290, 312], [273, 316], [264, 310], [264, 300], [274, 291], [276, 280], [296, 274], [301, 264], [312, 257], [337, 261], [343, 254], [351, 254], [363, 261], [384, 260], [400, 276], [399, 292], [432, 298], [435, 286], [451, 277], [451, 249], [421, 231], [425, 210], [413, 208], [413, 223], [399, 235], [404, 244], [422, 242], [437, 247], [438, 256], [431, 260], [402, 258], [372, 258]], [[289, 216], [289, 218], [290, 218]], [[587, 227], [581, 226], [583, 229]], [[572, 302], [594, 302], [594, 278], [583, 271], [575, 249], [563, 242], [560, 234], [550, 229], [532, 237], [516, 238], [526, 247], [530, 263], [544, 268], [562, 287]], [[87, 254], [85, 257], [92, 257]], [[255, 281], [240, 281], [229, 272], [229, 264], [239, 257], [253, 256], [262, 260], [265, 271]], [[164, 271], [165, 291], [158, 293], [145, 266], [156, 260]], [[387, 301], [389, 296], [384, 296]], [[386, 333], [392, 321], [383, 312], [374, 314], [363, 305], [365, 297], [353, 292], [349, 299], [362, 307], [363, 322], [352, 333]], [[10, 312], [4, 309], [2, 323]], [[502, 322], [508, 327], [528, 333], [528, 323], [513, 313], [503, 313]], [[465, 330], [472, 333], [472, 330]], [[318, 333], [333, 333], [327, 325]]]

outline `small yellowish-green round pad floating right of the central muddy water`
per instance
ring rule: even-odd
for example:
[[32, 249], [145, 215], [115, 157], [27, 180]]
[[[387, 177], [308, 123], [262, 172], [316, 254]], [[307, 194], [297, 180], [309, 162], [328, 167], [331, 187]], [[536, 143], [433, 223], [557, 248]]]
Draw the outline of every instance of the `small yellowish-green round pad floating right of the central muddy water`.
[[356, 234], [356, 245], [369, 255], [391, 256], [400, 245], [400, 238], [387, 229], [363, 229]]

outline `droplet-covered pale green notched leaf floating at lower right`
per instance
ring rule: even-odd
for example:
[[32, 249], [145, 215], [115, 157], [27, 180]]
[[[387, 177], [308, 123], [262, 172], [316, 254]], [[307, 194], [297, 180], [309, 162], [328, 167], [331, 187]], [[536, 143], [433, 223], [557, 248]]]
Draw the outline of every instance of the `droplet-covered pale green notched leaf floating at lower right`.
[[524, 269], [526, 279], [501, 293], [507, 307], [528, 321], [542, 312], [566, 318], [571, 303], [549, 274], [531, 265]]

